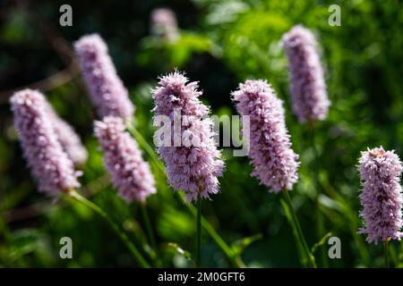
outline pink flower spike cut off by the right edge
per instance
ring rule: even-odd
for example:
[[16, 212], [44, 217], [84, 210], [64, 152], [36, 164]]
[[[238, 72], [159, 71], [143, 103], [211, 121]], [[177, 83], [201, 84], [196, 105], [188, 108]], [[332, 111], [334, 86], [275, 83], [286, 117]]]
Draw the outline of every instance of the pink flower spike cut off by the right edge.
[[382, 147], [362, 152], [358, 171], [363, 181], [360, 194], [364, 218], [361, 233], [366, 240], [378, 243], [379, 240], [400, 240], [403, 236], [401, 207], [402, 194], [400, 173], [402, 165], [394, 151]]

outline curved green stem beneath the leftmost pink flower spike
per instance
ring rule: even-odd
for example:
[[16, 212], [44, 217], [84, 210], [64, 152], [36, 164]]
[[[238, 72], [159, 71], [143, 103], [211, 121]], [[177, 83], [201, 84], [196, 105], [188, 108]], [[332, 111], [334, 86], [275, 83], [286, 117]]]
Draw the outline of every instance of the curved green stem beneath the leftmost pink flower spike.
[[107, 223], [112, 227], [112, 229], [116, 232], [119, 238], [124, 242], [124, 245], [130, 250], [133, 254], [133, 257], [136, 258], [137, 262], [143, 268], [150, 268], [150, 264], [141, 256], [140, 251], [133, 245], [133, 243], [129, 240], [127, 235], [120, 229], [120, 227], [109, 217], [107, 213], [105, 213], [99, 206], [92, 203], [87, 198], [82, 197], [75, 189], [70, 189], [68, 192], [68, 198], [73, 198], [77, 202], [81, 203], [83, 206], [87, 206], [95, 213], [99, 214], [102, 218], [104, 218]]

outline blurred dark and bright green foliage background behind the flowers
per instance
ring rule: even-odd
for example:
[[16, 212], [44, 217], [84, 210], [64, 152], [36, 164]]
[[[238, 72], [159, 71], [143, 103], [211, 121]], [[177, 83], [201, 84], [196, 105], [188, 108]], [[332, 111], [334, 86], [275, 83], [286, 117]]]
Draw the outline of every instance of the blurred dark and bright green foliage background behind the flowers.
[[[65, 1], [0, 4], [0, 90], [24, 87], [65, 68], [40, 23], [53, 27], [67, 43], [99, 32], [137, 106], [136, 125], [152, 144], [150, 88], [159, 74], [178, 68], [200, 80], [203, 100], [216, 114], [236, 114], [230, 91], [245, 79], [266, 79], [285, 101], [287, 127], [301, 158], [300, 181], [292, 192], [302, 228], [313, 246], [331, 232], [342, 243], [342, 258], [329, 259], [327, 243], [317, 246], [320, 266], [381, 266], [382, 247], [356, 233], [361, 225], [357, 157], [366, 147], [395, 149], [403, 156], [403, 9], [399, 0], [193, 0], [70, 1], [73, 27], [60, 27]], [[330, 27], [330, 4], [341, 7], [341, 26]], [[159, 6], [177, 15], [180, 38], [164, 42], [150, 36], [150, 11]], [[287, 60], [280, 46], [284, 32], [302, 23], [322, 46], [329, 118], [313, 134], [290, 112]], [[96, 215], [79, 205], [52, 203], [36, 190], [21, 156], [9, 95], [0, 98], [0, 265], [14, 267], [136, 266], [124, 245]], [[92, 136], [92, 107], [80, 76], [47, 91], [57, 112], [81, 134], [90, 158], [81, 183], [90, 199], [122, 223], [147, 256], [139, 206], [127, 206], [105, 179], [98, 142]], [[253, 267], [299, 266], [296, 244], [279, 196], [250, 176], [245, 157], [224, 149], [227, 171], [221, 192], [206, 201], [203, 214]], [[150, 158], [144, 154], [150, 161]], [[164, 265], [192, 265], [194, 219], [172, 195], [152, 164], [159, 193], [148, 201]], [[317, 177], [317, 180], [314, 178]], [[317, 181], [317, 182], [315, 182]], [[316, 187], [315, 187], [316, 186]], [[318, 200], [316, 201], [316, 198]], [[319, 211], [317, 208], [319, 206]], [[319, 228], [319, 229], [318, 229]], [[59, 240], [73, 239], [73, 259], [60, 259]], [[322, 241], [323, 242], [323, 241]], [[390, 243], [392, 265], [403, 266], [403, 244]], [[219, 248], [203, 233], [203, 265], [227, 266]]]

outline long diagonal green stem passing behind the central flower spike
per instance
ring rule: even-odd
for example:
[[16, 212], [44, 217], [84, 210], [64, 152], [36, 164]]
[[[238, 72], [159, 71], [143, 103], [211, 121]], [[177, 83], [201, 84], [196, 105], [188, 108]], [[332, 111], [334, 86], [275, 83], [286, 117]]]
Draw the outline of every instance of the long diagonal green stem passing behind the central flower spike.
[[[149, 143], [147, 142], [146, 139], [144, 139], [141, 135], [141, 133], [136, 130], [133, 126], [133, 123], [127, 122], [126, 124], [127, 130], [132, 134], [132, 136], [137, 140], [137, 142], [143, 147], [143, 149], [147, 152], [147, 154], [150, 156], [150, 158], [154, 161], [154, 163], [158, 166], [159, 171], [162, 172], [165, 175], [165, 168], [164, 165], [161, 164], [159, 161], [159, 157], [155, 153], [154, 149], [150, 147]], [[196, 207], [194, 207], [192, 204], [187, 204], [185, 201], [185, 198], [179, 195], [179, 193], [176, 191], [176, 198], [180, 200], [184, 206], [188, 208], [188, 210], [193, 214], [197, 215], [197, 210]], [[211, 224], [201, 215], [201, 226], [207, 233], [210, 235], [211, 239], [216, 242], [216, 244], [221, 248], [221, 250], [224, 252], [228, 260], [231, 262], [232, 265], [235, 265], [236, 267], [242, 268], [245, 267], [244, 263], [242, 262], [241, 258], [236, 256], [234, 254], [234, 251], [227, 245], [227, 243], [219, 236], [219, 233], [214, 230], [214, 228], [211, 226]]]

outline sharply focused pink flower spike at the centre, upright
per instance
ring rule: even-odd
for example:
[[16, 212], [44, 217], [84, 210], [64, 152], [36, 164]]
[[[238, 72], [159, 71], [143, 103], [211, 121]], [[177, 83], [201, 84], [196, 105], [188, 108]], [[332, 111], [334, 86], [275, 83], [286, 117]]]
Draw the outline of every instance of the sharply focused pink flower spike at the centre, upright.
[[[224, 162], [213, 139], [212, 122], [202, 119], [210, 109], [201, 104], [197, 82], [188, 83], [180, 72], [170, 73], [159, 79], [159, 87], [152, 90], [156, 116], [165, 115], [175, 130], [174, 115], [182, 114], [179, 137], [193, 138], [197, 146], [159, 145], [158, 152], [167, 167], [167, 178], [176, 190], [184, 190], [188, 201], [209, 198], [219, 192], [219, 180]], [[173, 136], [173, 139], [175, 136]], [[196, 140], [194, 140], [196, 139]]]

